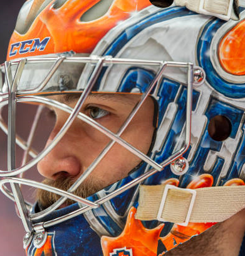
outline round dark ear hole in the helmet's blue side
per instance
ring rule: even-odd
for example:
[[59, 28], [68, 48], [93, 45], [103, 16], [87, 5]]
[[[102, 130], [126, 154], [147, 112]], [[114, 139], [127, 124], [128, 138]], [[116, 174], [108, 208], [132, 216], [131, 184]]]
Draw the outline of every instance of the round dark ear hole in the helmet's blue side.
[[213, 140], [222, 142], [231, 135], [231, 128], [231, 121], [226, 116], [218, 115], [211, 118], [207, 131]]

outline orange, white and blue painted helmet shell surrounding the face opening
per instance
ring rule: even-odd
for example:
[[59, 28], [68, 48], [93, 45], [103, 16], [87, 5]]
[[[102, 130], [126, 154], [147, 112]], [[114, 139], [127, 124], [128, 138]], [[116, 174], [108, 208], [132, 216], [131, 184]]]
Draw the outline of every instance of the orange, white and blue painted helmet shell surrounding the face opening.
[[[100, 2], [27, 1], [18, 20], [25, 21], [25, 25], [16, 26], [9, 43], [8, 60], [60, 56], [64, 52], [67, 56], [68, 52], [68, 56], [74, 57], [91, 54], [112, 59], [191, 63], [199, 67], [197, 70], [204, 72], [206, 79], [192, 91], [190, 145], [182, 155], [189, 165], [187, 172], [177, 175], [169, 164], [140, 184], [173, 184], [190, 189], [243, 186], [244, 11], [239, 21], [223, 21], [180, 6], [157, 8], [149, 1], [116, 0], [107, 4], [108, 9], [104, 8], [104, 13], [95, 18], [92, 9]], [[85, 21], [84, 15], [90, 9], [92, 14], [89, 13]], [[81, 77], [73, 83], [75, 86], [55, 87], [55, 90], [85, 91], [93, 70], [94, 66], [86, 64]], [[92, 91], [143, 94], [157, 74], [157, 68], [147, 65], [106, 66], [98, 74]], [[20, 85], [21, 89], [26, 84]], [[47, 85], [45, 90], [53, 92], [53, 84]], [[159, 165], [182, 148], [187, 91], [187, 72], [175, 67], [166, 69], [150, 92], [157, 106], [157, 119], [148, 156]], [[212, 126], [216, 126], [214, 131]], [[96, 202], [107, 197], [151, 168], [142, 162], [127, 177], [96, 192], [88, 200]], [[157, 220], [137, 220], [140, 184], [99, 208], [55, 225], [48, 223], [79, 212], [83, 205], [75, 203], [33, 220], [46, 227], [47, 239], [41, 248], [35, 245], [34, 239], [28, 240], [27, 255], [163, 255], [215, 224], [189, 223], [184, 227]], [[32, 214], [38, 211], [36, 204]], [[178, 233], [185, 236], [180, 237]]]

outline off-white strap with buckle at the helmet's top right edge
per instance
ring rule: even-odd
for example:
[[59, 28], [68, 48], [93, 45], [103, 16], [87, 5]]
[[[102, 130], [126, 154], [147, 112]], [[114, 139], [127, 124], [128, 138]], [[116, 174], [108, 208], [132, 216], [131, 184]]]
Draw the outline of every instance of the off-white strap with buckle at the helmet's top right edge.
[[175, 0], [174, 3], [196, 13], [216, 16], [224, 20], [238, 20], [233, 9], [234, 1], [236, 0]]

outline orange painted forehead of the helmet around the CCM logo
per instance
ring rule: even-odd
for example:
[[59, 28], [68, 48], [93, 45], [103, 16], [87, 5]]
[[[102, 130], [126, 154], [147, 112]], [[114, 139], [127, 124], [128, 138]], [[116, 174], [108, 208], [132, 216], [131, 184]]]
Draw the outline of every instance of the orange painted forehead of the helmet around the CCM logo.
[[[58, 9], [53, 8], [54, 1], [52, 1], [38, 14], [24, 35], [14, 31], [9, 42], [8, 60], [71, 50], [76, 53], [91, 53], [96, 44], [119, 21], [130, 18], [133, 12], [140, 11], [150, 5], [149, 0], [115, 0], [107, 13], [102, 17], [89, 22], [81, 22], [80, 17], [99, 1], [67, 0]], [[37, 2], [38, 0], [34, 1], [30, 11], [36, 9], [36, 6], [39, 4]], [[24, 40], [33, 40], [34, 38], [40, 38], [41, 41], [47, 36], [50, 36], [50, 41], [42, 52], [36, 49], [34, 52], [21, 55], [17, 53], [14, 57], [9, 57], [11, 44]], [[32, 47], [32, 45], [28, 47]]]

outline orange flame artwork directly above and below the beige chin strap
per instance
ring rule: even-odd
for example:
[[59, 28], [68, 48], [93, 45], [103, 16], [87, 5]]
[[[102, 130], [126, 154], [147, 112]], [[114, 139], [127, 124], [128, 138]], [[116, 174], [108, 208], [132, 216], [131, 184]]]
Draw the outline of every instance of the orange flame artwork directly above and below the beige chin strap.
[[[191, 181], [187, 188], [198, 189], [201, 187], [211, 187], [214, 179], [211, 174], [202, 174]], [[225, 186], [241, 185], [241, 179], [232, 179], [227, 182]], [[164, 184], [179, 185], [179, 180], [168, 179], [164, 181]], [[244, 184], [244, 182], [243, 182]], [[164, 252], [160, 252], [159, 256], [165, 254], [165, 252], [177, 247], [180, 243], [184, 243], [194, 235], [199, 235], [203, 231], [207, 230], [216, 223], [189, 223], [188, 226], [174, 225], [169, 234], [165, 237], [160, 237], [160, 232], [164, 225], [161, 224], [152, 230], [145, 228], [142, 222], [135, 220], [136, 209], [130, 209], [128, 214], [127, 223], [121, 235], [118, 237], [102, 237], [102, 250], [104, 256], [109, 256], [110, 252], [113, 252], [116, 248], [132, 248], [134, 256], [142, 255], [157, 255], [157, 247], [159, 242], [165, 248]]]

